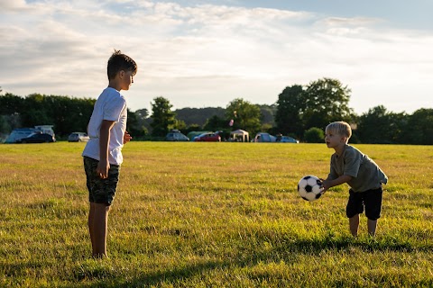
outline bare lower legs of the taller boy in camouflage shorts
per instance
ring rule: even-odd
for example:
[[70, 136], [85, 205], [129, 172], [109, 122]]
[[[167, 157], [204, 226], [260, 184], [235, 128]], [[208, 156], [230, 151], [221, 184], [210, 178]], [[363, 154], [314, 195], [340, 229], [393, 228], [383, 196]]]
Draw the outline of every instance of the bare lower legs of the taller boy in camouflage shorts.
[[108, 224], [108, 212], [110, 206], [103, 203], [94, 203], [95, 212], [93, 218], [94, 257], [106, 257], [106, 233]]

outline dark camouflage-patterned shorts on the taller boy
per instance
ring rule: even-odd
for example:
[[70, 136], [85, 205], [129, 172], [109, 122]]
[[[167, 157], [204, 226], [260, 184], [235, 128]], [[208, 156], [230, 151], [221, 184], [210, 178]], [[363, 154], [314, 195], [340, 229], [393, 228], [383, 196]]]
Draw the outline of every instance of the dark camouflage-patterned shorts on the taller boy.
[[99, 161], [90, 157], [83, 158], [84, 170], [87, 176], [88, 201], [106, 204], [107, 206], [111, 205], [115, 198], [117, 182], [119, 182], [120, 166], [110, 164], [108, 177], [101, 179], [97, 175], [97, 164]]

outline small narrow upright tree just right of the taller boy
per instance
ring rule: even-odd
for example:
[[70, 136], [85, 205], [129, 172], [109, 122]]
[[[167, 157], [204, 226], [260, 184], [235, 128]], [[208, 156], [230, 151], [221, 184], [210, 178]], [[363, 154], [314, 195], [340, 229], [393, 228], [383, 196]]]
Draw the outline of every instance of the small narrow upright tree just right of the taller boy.
[[164, 137], [176, 124], [175, 113], [171, 111], [173, 105], [162, 96], [153, 99], [152, 105], [152, 136]]

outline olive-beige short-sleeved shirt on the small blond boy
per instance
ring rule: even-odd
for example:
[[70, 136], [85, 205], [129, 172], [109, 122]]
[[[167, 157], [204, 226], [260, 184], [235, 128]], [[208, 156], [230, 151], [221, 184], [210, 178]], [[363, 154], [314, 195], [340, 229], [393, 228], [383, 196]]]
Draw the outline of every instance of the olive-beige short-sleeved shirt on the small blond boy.
[[352, 180], [347, 184], [355, 192], [377, 189], [388, 182], [388, 177], [370, 157], [347, 144], [340, 157], [336, 153], [331, 156], [331, 168], [327, 178], [334, 180], [341, 175], [352, 176]]

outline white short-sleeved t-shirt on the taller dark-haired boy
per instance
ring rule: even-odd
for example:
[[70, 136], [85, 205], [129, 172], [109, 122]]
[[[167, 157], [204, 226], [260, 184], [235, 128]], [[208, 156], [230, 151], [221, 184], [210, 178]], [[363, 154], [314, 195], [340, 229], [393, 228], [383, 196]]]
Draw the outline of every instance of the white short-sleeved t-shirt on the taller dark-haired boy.
[[93, 108], [92, 116], [88, 122], [88, 136], [90, 139], [84, 148], [82, 156], [99, 160], [99, 132], [103, 120], [115, 121], [110, 130], [110, 143], [108, 145], [108, 162], [121, 165], [124, 161], [122, 148], [124, 147], [124, 131], [126, 130], [127, 108], [126, 100], [119, 91], [111, 87], [99, 95]]

